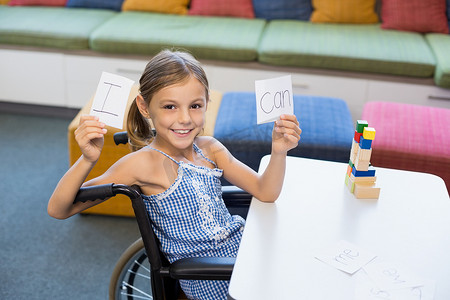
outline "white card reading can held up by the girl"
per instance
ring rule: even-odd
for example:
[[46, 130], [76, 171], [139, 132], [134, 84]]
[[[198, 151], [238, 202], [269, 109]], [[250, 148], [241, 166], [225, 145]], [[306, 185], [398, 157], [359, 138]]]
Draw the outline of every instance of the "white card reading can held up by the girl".
[[256, 80], [255, 94], [258, 124], [276, 121], [282, 114], [294, 114], [291, 75]]

